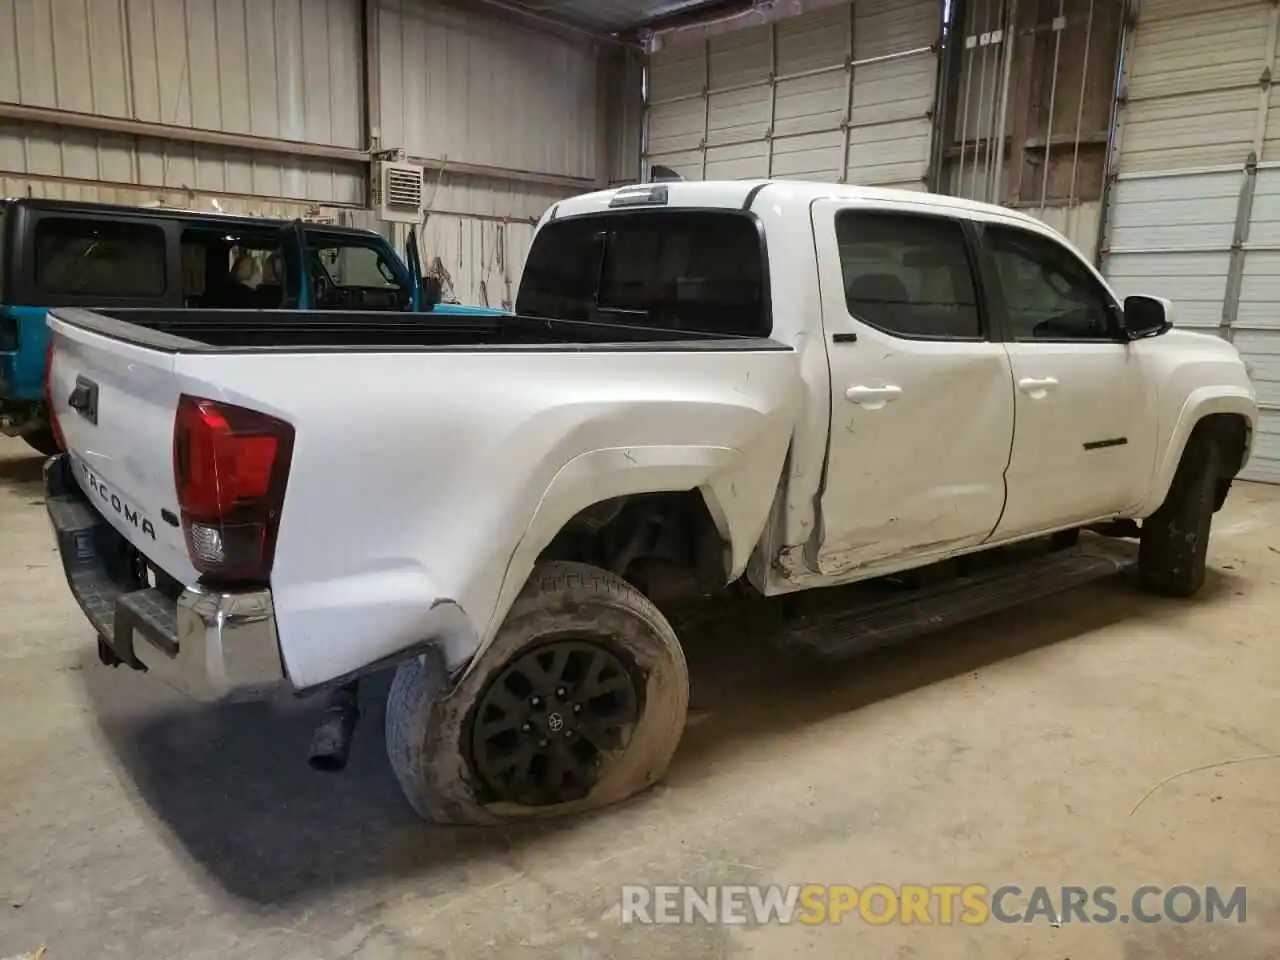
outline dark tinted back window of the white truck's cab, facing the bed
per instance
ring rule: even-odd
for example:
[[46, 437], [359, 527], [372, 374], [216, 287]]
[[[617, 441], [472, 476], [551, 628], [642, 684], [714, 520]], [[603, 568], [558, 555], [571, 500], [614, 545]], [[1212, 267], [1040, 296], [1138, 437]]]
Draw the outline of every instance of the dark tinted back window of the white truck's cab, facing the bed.
[[563, 320], [768, 337], [764, 247], [750, 216], [603, 214], [538, 232], [516, 312]]

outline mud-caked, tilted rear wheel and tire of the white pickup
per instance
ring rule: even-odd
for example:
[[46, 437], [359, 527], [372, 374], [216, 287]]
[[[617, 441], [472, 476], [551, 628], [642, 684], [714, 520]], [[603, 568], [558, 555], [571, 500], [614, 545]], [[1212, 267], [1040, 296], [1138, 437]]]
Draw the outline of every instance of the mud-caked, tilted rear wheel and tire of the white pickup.
[[[593, 659], [596, 649], [600, 659]], [[553, 662], [567, 677], [548, 681], [550, 695], [557, 698], [556, 713], [543, 703], [536, 717], [516, 716], [539, 700], [536, 691], [520, 684], [526, 675], [541, 677], [544, 667], [552, 676], [548, 664]], [[564, 666], [577, 663], [586, 664], [579, 669], [590, 673], [590, 680], [585, 675], [575, 680], [575, 667]], [[614, 668], [605, 671], [600, 663]], [[625, 682], [614, 677], [617, 667], [625, 671]], [[614, 692], [595, 696], [607, 686], [598, 680], [603, 676], [614, 677], [608, 684]], [[436, 657], [416, 658], [396, 672], [387, 703], [387, 753], [396, 778], [413, 809], [436, 823], [558, 817], [632, 796], [666, 772], [689, 710], [689, 669], [671, 625], [625, 580], [585, 563], [539, 566], [480, 662], [447, 696], [442, 694], [444, 684]], [[614, 699], [631, 705], [630, 722], [609, 727], [608, 742], [596, 749], [602, 735], [589, 726], [588, 717], [600, 714], [600, 704]], [[575, 716], [575, 708], [585, 714]], [[579, 721], [581, 726], [568, 730]], [[603, 728], [609, 722], [599, 724]], [[497, 748], [490, 751], [484, 732], [494, 727], [503, 727], [504, 737], [522, 737], [512, 748], [521, 756], [545, 754], [552, 730], [562, 737], [576, 731], [572, 746], [590, 755], [568, 773], [559, 767], [567, 754], [534, 760], [536, 777], [530, 777], [544, 790], [530, 803], [529, 790], [518, 794], [493, 772]], [[557, 740], [549, 749], [567, 749], [566, 744]], [[477, 754], [484, 754], [481, 763]], [[557, 764], [556, 782], [568, 785], [559, 792], [547, 786], [552, 780], [549, 763]], [[520, 782], [527, 787], [530, 778]]]

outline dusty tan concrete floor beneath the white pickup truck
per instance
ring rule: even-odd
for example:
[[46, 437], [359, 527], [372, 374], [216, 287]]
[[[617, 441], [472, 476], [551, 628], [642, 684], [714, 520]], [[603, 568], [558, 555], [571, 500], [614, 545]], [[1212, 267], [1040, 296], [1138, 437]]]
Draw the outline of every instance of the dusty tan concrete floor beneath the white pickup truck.
[[[312, 705], [197, 709], [97, 664], [0, 440], [0, 957], [1280, 956], [1280, 489], [1240, 485], [1189, 603], [1102, 584], [832, 669], [691, 641], [667, 782], [576, 822], [428, 827], [311, 773]], [[759, 632], [759, 631], [756, 631]], [[1245, 924], [620, 927], [623, 883], [1248, 886]]]

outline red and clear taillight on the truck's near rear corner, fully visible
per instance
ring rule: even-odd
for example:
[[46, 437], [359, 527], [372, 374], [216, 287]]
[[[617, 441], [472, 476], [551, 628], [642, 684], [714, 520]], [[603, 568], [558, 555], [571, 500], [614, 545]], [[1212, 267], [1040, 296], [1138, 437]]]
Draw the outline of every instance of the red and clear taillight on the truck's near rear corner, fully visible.
[[173, 477], [191, 564], [214, 582], [265, 581], [293, 456], [293, 426], [256, 410], [178, 399]]

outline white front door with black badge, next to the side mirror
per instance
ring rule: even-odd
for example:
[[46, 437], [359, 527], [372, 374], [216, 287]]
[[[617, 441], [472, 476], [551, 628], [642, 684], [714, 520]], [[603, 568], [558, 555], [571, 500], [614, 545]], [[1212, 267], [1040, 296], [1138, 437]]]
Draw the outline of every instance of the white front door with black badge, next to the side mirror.
[[983, 246], [1018, 404], [996, 539], [1123, 512], [1146, 486], [1155, 430], [1137, 426], [1151, 378], [1120, 337], [1119, 307], [1079, 255], [1044, 233], [986, 225]]

